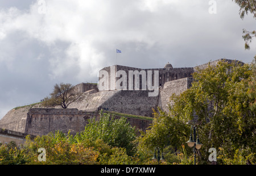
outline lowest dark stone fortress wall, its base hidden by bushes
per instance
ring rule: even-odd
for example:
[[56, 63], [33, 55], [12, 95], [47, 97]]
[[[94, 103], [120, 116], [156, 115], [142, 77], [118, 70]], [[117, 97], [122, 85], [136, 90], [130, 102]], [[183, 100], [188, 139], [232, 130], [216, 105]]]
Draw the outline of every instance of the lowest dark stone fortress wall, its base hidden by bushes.
[[[114, 116], [120, 118], [120, 116]], [[100, 118], [98, 112], [79, 111], [76, 108], [72, 109], [56, 109], [56, 108], [31, 108], [27, 114], [25, 133], [29, 135], [47, 135], [49, 132], [57, 130], [64, 133], [71, 132], [75, 135], [77, 132], [84, 130], [88, 124], [88, 119]], [[146, 128], [151, 124], [151, 120], [135, 119], [125, 117], [131, 126], [136, 129], [146, 131]]]

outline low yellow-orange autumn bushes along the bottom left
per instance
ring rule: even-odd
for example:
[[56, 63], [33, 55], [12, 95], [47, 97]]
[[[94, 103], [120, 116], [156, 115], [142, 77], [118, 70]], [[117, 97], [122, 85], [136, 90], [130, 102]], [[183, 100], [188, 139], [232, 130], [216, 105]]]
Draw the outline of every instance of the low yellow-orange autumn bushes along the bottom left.
[[[9, 149], [0, 148], [0, 164], [15, 164], [24, 160], [23, 164], [48, 164], [48, 165], [128, 165], [138, 164], [138, 158], [126, 154], [125, 148], [112, 147], [102, 139], [89, 139], [80, 136], [80, 133], [72, 136], [60, 131], [51, 132], [48, 135], [36, 136], [34, 140], [26, 138], [22, 157], [13, 160], [14, 154], [9, 154]], [[39, 161], [39, 148], [46, 150], [46, 161]], [[19, 152], [20, 153], [20, 152]], [[23, 154], [22, 153], [22, 154]], [[2, 154], [2, 156], [1, 156]]]

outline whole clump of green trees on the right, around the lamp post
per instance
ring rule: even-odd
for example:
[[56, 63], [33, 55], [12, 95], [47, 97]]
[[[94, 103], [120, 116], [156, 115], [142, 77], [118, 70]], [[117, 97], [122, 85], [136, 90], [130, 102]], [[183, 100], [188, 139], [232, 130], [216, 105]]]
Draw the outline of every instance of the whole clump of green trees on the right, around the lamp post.
[[197, 151], [201, 161], [207, 161], [208, 149], [214, 147], [224, 149], [230, 158], [237, 149], [243, 150], [245, 156], [253, 153], [255, 162], [256, 119], [251, 109], [255, 97], [249, 96], [250, 65], [220, 61], [216, 66], [209, 64], [206, 69], [197, 69], [193, 79], [191, 88], [172, 95], [170, 113], [159, 111], [155, 115], [152, 128], [142, 137], [142, 144], [172, 145], [182, 151], [179, 145], [188, 140], [190, 126], [187, 123], [191, 123], [197, 124], [204, 144], [201, 152]]

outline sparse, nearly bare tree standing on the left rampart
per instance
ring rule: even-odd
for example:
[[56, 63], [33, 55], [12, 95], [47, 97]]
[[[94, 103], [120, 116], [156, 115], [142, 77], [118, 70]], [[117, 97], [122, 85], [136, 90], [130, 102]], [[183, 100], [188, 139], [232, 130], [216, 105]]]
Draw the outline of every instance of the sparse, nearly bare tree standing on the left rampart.
[[75, 100], [81, 97], [80, 93], [76, 93], [75, 87], [70, 83], [60, 83], [60, 85], [55, 85], [53, 92], [50, 94], [51, 97], [44, 98], [42, 103], [43, 106], [61, 106], [62, 108], [67, 108], [69, 104], [75, 102]]

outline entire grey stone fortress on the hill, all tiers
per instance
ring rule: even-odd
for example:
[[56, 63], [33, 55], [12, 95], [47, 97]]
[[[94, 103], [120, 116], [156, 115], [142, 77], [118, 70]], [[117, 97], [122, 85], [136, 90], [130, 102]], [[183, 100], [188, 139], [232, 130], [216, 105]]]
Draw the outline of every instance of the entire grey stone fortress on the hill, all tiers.
[[[209, 62], [209, 64], [216, 65], [220, 60]], [[232, 62], [232, 60], [226, 59], [225, 61]], [[180, 94], [187, 90], [191, 86], [192, 73], [196, 72], [196, 68], [204, 69], [207, 66], [208, 63], [194, 68], [173, 68], [170, 63], [159, 69], [139, 69], [121, 65], [109, 66], [102, 70], [109, 74], [123, 70], [127, 75], [129, 75], [129, 70], [138, 70], [139, 73], [142, 73], [141, 70], [158, 70], [158, 95], [149, 97], [148, 92], [150, 90], [142, 90], [142, 75], [139, 76], [139, 90], [116, 90], [112, 84], [117, 83], [121, 76], [114, 75], [114, 81], [109, 78], [109, 89], [106, 90], [99, 90], [96, 83], [76, 85], [76, 91], [82, 93], [82, 99], [71, 103], [67, 109], [60, 107], [44, 108], [40, 106], [40, 103], [16, 107], [0, 120], [0, 128], [35, 136], [47, 135], [47, 133], [56, 130], [65, 133], [70, 131], [75, 134], [84, 129], [85, 125], [88, 124], [88, 119], [98, 118], [99, 111], [105, 110], [111, 113], [122, 113], [121, 116], [125, 116], [131, 125], [144, 131], [152, 122], [152, 108], [160, 107], [168, 112], [171, 95]], [[129, 83], [128, 80], [127, 83]], [[114, 113], [113, 115], [117, 118], [120, 116], [120, 114]], [[144, 117], [141, 118], [141, 116]]]

